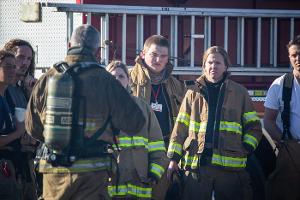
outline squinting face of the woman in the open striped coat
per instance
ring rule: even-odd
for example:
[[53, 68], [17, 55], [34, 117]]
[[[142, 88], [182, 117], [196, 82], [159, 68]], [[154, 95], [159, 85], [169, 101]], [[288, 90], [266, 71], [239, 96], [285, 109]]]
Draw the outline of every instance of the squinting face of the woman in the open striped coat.
[[208, 81], [212, 83], [220, 81], [226, 70], [224, 58], [220, 53], [208, 55], [204, 66], [204, 74]]

